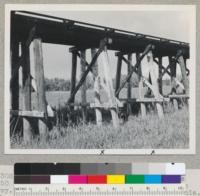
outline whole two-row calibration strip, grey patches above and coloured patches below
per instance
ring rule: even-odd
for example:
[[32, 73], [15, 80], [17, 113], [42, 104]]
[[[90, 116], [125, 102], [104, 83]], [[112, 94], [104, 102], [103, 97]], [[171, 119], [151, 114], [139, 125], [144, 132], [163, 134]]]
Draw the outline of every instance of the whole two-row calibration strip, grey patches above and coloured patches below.
[[18, 163], [15, 184], [179, 184], [184, 163]]

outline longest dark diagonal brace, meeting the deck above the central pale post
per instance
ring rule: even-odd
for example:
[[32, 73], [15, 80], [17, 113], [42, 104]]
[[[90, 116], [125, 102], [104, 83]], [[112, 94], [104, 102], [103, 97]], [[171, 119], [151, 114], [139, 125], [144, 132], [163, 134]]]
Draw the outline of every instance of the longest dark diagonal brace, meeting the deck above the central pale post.
[[[112, 40], [111, 40], [112, 41]], [[110, 42], [110, 40], [108, 39], [103, 39], [100, 42], [100, 46], [98, 51], [96, 52], [96, 54], [94, 55], [94, 57], [92, 58], [92, 61], [90, 64], [86, 64], [87, 65], [87, 69], [85, 70], [84, 74], [82, 75], [81, 79], [79, 80], [78, 84], [76, 85], [75, 89], [73, 90], [72, 94], [70, 95], [67, 104], [69, 104], [70, 102], [72, 102], [73, 97], [76, 95], [77, 91], [79, 90], [79, 88], [82, 86], [83, 82], [85, 81], [88, 73], [90, 72], [90, 70], [92, 69], [92, 67], [94, 66], [94, 64], [96, 63], [97, 58], [99, 57], [99, 55], [101, 54], [101, 52], [104, 50], [104, 47]], [[86, 61], [84, 60], [84, 62], [86, 63]]]

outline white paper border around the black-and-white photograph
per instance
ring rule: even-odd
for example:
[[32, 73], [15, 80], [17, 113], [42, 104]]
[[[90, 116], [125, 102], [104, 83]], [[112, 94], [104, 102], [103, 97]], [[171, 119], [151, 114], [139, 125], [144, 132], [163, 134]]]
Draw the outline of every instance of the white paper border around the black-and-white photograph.
[[[190, 36], [190, 99], [189, 148], [187, 149], [11, 149], [9, 131], [10, 105], [10, 11], [188, 11], [191, 12]], [[4, 152], [5, 154], [96, 154], [96, 155], [166, 155], [196, 153], [196, 6], [195, 5], [133, 5], [133, 4], [6, 4], [4, 54]], [[191, 77], [192, 76], [192, 77]]]

